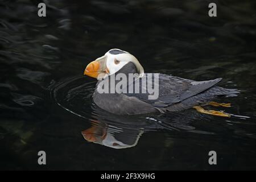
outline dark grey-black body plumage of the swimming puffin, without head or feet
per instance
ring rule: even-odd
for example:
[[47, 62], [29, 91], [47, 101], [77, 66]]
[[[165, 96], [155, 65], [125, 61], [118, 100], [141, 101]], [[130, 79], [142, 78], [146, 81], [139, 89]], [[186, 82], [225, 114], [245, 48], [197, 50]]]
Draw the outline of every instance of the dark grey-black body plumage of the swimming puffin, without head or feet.
[[[126, 75], [137, 73], [137, 68], [130, 62], [115, 74], [118, 73]], [[148, 73], [145, 73], [144, 76], [148, 77]], [[97, 85], [102, 81], [109, 81], [108, 78], [98, 81]], [[97, 89], [94, 91], [93, 100], [102, 109], [121, 115], [181, 111], [196, 105], [204, 105], [217, 96], [239, 93], [237, 89], [225, 89], [216, 86], [219, 81], [221, 78], [193, 81], [159, 73], [159, 97], [155, 100], [148, 100], [150, 93], [98, 93]], [[152, 84], [155, 86], [154, 82]], [[142, 88], [141, 81], [140, 86]]]

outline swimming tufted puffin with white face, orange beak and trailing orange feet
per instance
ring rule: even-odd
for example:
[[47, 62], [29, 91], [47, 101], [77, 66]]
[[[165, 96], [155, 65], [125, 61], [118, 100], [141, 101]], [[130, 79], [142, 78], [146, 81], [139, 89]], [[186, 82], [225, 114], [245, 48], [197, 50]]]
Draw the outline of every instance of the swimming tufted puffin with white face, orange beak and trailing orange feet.
[[[84, 75], [98, 80], [92, 96], [93, 102], [101, 109], [117, 115], [167, 113], [193, 108], [203, 114], [230, 117], [231, 115], [224, 111], [205, 110], [204, 106], [230, 107], [230, 103], [218, 103], [213, 100], [220, 96], [236, 96], [240, 93], [238, 89], [217, 86], [216, 84], [222, 78], [194, 81], [164, 73], [144, 73], [142, 65], [135, 56], [118, 48], [110, 49], [104, 56], [90, 62], [84, 69]], [[118, 75], [121, 76], [117, 79]], [[123, 78], [129, 75], [134, 76], [132, 81]], [[110, 92], [112, 88], [117, 88], [120, 77], [123, 81], [119, 87], [120, 90]], [[152, 98], [152, 92], [142, 93], [142, 89], [140, 92], [134, 92], [138, 86], [145, 88], [143, 79], [150, 80], [151, 78], [152, 80], [152, 77], [157, 80], [151, 85], [148, 82], [146, 84], [152, 88], [158, 88], [158, 97]], [[115, 78], [113, 82], [111, 82], [112, 78]], [[102, 89], [107, 92], [102, 92]]]

